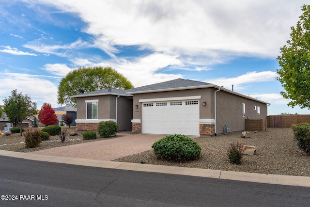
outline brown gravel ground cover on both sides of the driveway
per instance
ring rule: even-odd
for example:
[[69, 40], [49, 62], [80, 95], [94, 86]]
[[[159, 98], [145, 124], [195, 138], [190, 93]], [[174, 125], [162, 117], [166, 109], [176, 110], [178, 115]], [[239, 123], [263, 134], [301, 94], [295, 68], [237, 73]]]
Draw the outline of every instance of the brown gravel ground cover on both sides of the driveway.
[[[76, 131], [74, 127], [68, 131]], [[83, 131], [77, 131], [78, 136], [67, 136], [65, 143], [60, 142], [58, 136], [51, 136], [52, 142], [43, 142], [37, 148], [26, 148], [25, 138], [19, 134], [11, 136], [0, 135], [0, 149], [16, 152], [31, 152], [52, 147], [70, 144], [96, 142], [99, 140], [113, 139], [99, 138], [96, 140], [82, 140]], [[202, 147], [201, 158], [189, 162], [169, 162], [156, 159], [153, 150], [136, 155], [127, 156], [113, 161], [147, 164], [169, 165], [191, 168], [204, 168], [225, 171], [239, 171], [248, 173], [297, 175], [310, 176], [310, 156], [307, 156], [298, 148], [294, 141], [293, 131], [290, 128], [267, 128], [267, 131], [250, 131], [251, 137], [244, 139], [240, 137], [241, 132], [232, 132], [226, 135], [199, 137], [194, 140]], [[118, 135], [116, 136], [118, 137]], [[163, 136], [164, 137], [164, 136]], [[70, 139], [79, 139], [69, 141]], [[58, 140], [58, 141], [57, 141]], [[257, 154], [254, 156], [244, 155], [242, 163], [235, 165], [229, 162], [226, 151], [230, 143], [242, 142], [245, 145], [257, 146]], [[16, 144], [17, 143], [17, 144]], [[6, 144], [6, 145], [3, 145]]]

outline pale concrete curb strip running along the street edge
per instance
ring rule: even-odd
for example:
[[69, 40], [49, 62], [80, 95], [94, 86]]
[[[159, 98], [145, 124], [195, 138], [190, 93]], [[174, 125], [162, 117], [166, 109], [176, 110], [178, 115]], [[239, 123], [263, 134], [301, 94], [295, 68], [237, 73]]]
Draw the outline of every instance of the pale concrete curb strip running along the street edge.
[[0, 150], [1, 156], [8, 156], [21, 159], [31, 159], [63, 164], [74, 164], [89, 167], [101, 167], [119, 170], [132, 170], [153, 173], [165, 173], [174, 175], [189, 175], [199, 177], [210, 177], [218, 179], [239, 180], [247, 182], [268, 183], [278, 185], [310, 187], [310, 176], [291, 176], [291, 175], [268, 175], [258, 173], [245, 173], [221, 170], [209, 170], [201, 168], [174, 167], [165, 165], [151, 165], [129, 162], [114, 162], [93, 159], [67, 158], [48, 155], [36, 155], [31, 153], [12, 152]]

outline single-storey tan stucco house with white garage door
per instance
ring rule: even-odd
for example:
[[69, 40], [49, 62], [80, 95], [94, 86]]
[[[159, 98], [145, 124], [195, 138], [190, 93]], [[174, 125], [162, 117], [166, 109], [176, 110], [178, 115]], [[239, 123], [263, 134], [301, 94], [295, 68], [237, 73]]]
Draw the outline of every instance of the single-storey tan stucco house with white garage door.
[[77, 98], [78, 130], [115, 121], [146, 134], [215, 135], [245, 130], [245, 119], [266, 119], [267, 102], [194, 80], [170, 80], [129, 90], [104, 89]]

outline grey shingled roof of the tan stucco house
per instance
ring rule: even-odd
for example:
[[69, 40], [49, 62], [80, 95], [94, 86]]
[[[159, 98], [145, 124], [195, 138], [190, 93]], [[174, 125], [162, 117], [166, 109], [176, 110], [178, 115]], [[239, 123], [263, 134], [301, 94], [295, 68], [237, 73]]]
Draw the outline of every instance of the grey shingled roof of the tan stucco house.
[[225, 91], [225, 92], [237, 95], [237, 96], [242, 96], [242, 97], [252, 99], [252, 100], [264, 103], [264, 104], [270, 104], [270, 103], [258, 100], [250, 96], [236, 93], [232, 90], [217, 86], [215, 84], [196, 81], [196, 80], [185, 80], [185, 79], [169, 80], [165, 82], [155, 83], [155, 84], [141, 86], [141, 87], [127, 89], [127, 90], [109, 88], [109, 89], [103, 89], [99, 91], [79, 94], [79, 95], [71, 96], [71, 97], [77, 98], [77, 97], [83, 97], [83, 96], [100, 96], [100, 95], [133, 96], [134, 94], [177, 91], [177, 90], [197, 89], [197, 88], [217, 88], [218, 90], [222, 90], [222, 91]]

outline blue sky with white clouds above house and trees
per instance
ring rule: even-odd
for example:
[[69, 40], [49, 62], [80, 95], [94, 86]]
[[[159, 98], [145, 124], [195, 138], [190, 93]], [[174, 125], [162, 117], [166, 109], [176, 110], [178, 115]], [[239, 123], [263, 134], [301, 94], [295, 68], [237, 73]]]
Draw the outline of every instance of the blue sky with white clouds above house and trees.
[[135, 87], [205, 81], [287, 106], [276, 80], [279, 50], [302, 0], [0, 0], [0, 105], [12, 90], [40, 109], [82, 66], [111, 66]]

